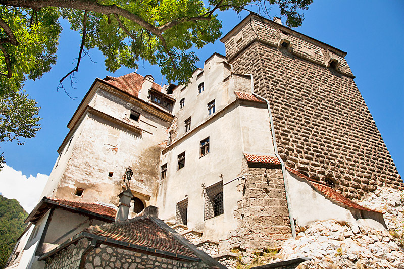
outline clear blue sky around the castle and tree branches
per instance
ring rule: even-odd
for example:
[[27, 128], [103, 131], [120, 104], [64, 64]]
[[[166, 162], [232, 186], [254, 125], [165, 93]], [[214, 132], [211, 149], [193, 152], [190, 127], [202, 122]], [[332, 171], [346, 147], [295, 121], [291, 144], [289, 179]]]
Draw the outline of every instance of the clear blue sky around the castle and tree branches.
[[[272, 10], [271, 15], [277, 11]], [[295, 30], [320, 41], [347, 51], [346, 60], [357, 77], [355, 82], [372, 113], [400, 174], [404, 173], [404, 1], [320, 1], [315, 0], [305, 12], [303, 26]], [[237, 16], [234, 12], [219, 14], [223, 21], [222, 33], [226, 34], [247, 13]], [[77, 80], [72, 89], [65, 82], [72, 100], [62, 91], [57, 92], [58, 81], [74, 65], [80, 36], [63, 23], [59, 40], [58, 62], [52, 71], [40, 80], [27, 81], [26, 92], [41, 106], [42, 129], [23, 146], [16, 143], [1, 143], [0, 152], [5, 152], [6, 163], [23, 175], [37, 173], [49, 175], [58, 156], [60, 146], [70, 120], [82, 97], [96, 77], [120, 76], [133, 72], [122, 68], [115, 74], [105, 70], [104, 58], [97, 50], [90, 55], [96, 62], [83, 58]], [[200, 58], [199, 67], [214, 51], [225, 54], [224, 45], [217, 41], [196, 51]], [[162, 76], [157, 66], [139, 63], [137, 72], [151, 74], [160, 83]], [[164, 82], [164, 80], [163, 80]], [[2, 186], [0, 185], [0, 191]]]

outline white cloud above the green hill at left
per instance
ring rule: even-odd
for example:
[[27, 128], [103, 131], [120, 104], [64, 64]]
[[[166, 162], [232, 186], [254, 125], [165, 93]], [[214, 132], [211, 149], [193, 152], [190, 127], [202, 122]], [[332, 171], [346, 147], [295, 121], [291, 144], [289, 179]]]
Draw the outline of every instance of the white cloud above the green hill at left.
[[41, 198], [40, 195], [49, 176], [40, 173], [28, 178], [21, 171], [5, 165], [0, 171], [0, 193], [9, 199], [17, 199], [30, 213]]

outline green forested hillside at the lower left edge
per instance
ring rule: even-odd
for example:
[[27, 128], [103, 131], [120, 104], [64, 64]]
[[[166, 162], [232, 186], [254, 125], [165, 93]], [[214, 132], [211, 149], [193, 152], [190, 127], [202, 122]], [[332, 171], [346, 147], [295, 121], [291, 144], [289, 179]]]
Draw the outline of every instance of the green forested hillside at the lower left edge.
[[0, 268], [4, 268], [17, 238], [24, 231], [27, 216], [16, 199], [0, 195]]

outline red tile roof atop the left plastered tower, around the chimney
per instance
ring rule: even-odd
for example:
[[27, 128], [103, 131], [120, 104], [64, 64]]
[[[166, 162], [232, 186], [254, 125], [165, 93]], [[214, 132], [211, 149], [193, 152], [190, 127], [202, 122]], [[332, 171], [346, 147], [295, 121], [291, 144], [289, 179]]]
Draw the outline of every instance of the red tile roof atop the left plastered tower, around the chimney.
[[[129, 73], [120, 77], [107, 76], [103, 81], [111, 86], [114, 86], [132, 96], [138, 97], [139, 91], [142, 88], [144, 77], [137, 73]], [[152, 89], [161, 91], [161, 86], [153, 82]]]

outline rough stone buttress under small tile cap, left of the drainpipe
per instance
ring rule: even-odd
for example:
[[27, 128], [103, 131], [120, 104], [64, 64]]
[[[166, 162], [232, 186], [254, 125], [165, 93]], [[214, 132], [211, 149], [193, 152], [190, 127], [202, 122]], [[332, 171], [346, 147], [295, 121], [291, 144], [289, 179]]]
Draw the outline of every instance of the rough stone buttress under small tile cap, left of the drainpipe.
[[229, 233], [230, 249], [278, 248], [291, 237], [282, 169], [249, 165], [244, 174], [246, 179], [237, 186], [243, 196], [234, 212], [238, 228]]

